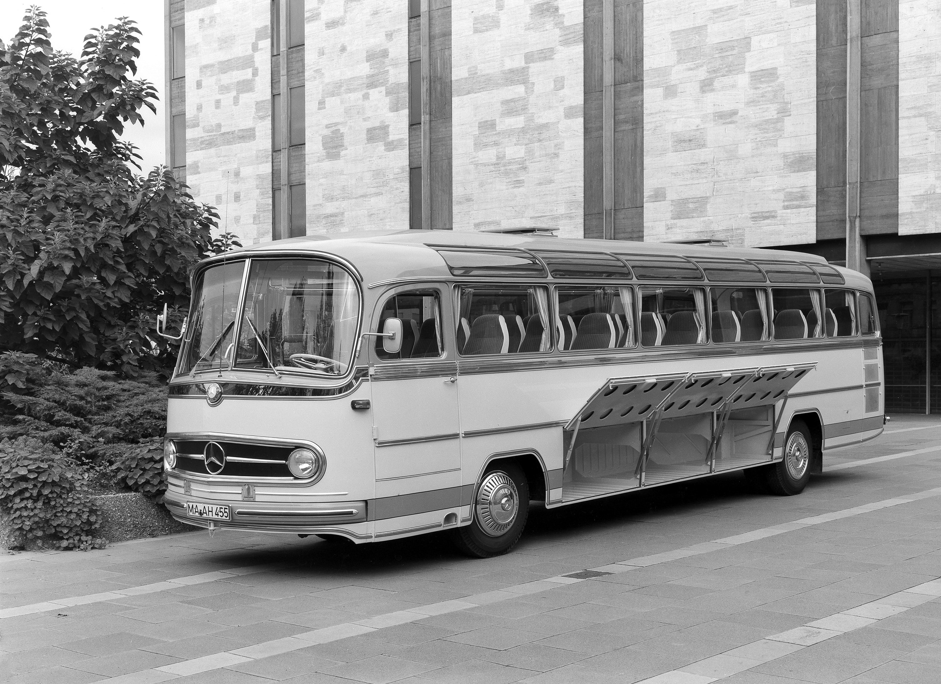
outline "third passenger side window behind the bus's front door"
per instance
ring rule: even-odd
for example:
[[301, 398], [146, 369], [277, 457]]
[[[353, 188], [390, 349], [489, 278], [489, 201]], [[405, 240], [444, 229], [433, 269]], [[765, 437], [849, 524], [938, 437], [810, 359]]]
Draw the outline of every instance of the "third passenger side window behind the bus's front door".
[[705, 344], [706, 290], [642, 287], [641, 344], [646, 347]]

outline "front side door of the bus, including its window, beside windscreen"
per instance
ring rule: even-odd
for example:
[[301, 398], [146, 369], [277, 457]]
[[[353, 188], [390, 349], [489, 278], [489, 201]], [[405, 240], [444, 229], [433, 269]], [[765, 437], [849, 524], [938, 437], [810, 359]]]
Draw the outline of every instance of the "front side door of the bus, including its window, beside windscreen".
[[453, 352], [452, 359], [445, 357], [441, 343], [443, 292], [442, 286], [412, 285], [387, 295], [374, 316], [375, 330], [381, 331], [387, 318], [402, 321], [402, 348], [396, 354], [383, 351], [382, 338], [367, 338], [375, 358], [370, 385], [376, 533], [383, 532], [382, 519], [456, 511], [460, 505], [457, 364]]

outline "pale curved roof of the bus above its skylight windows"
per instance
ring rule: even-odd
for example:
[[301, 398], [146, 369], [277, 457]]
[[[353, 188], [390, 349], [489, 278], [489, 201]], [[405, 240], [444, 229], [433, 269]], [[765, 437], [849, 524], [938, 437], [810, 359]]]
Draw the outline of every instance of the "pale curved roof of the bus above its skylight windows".
[[[358, 231], [335, 235], [308, 235], [277, 242], [243, 247], [225, 256], [206, 260], [231, 259], [235, 256], [267, 256], [283, 253], [328, 254], [349, 262], [367, 286], [399, 278], [452, 279], [448, 264], [439, 249], [457, 247], [494, 249], [525, 249], [609, 253], [638, 256], [682, 256], [689, 259], [747, 259], [760, 262], [805, 262], [826, 265], [822, 257], [780, 249], [725, 247], [722, 245], [688, 245], [614, 240], [566, 239], [532, 233], [495, 233], [478, 231]], [[851, 287], [870, 289], [869, 278], [860, 273], [832, 266]], [[692, 284], [692, 283], [691, 283]]]

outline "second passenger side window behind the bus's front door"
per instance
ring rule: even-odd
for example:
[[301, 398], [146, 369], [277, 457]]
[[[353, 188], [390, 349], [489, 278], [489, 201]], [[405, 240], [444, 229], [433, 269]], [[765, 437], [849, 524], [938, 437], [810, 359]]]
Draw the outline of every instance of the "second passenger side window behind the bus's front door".
[[557, 287], [555, 334], [559, 349], [614, 349], [637, 344], [634, 291], [622, 287]]

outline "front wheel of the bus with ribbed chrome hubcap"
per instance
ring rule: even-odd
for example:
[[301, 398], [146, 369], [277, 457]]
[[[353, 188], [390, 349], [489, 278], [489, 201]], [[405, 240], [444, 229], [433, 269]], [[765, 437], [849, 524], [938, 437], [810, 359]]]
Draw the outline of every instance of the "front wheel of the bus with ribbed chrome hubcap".
[[529, 516], [529, 483], [522, 469], [505, 461], [487, 468], [474, 489], [471, 508], [470, 525], [453, 533], [457, 549], [473, 558], [491, 558], [512, 550]]

